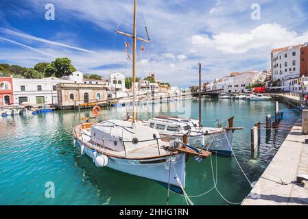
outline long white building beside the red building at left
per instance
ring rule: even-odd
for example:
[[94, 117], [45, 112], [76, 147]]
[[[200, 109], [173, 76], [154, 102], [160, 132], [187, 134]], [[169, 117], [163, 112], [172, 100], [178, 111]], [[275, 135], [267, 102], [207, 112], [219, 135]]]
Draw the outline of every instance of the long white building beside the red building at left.
[[58, 103], [57, 84], [67, 82], [55, 77], [43, 79], [13, 78], [14, 104], [20, 105], [24, 102], [35, 105]]

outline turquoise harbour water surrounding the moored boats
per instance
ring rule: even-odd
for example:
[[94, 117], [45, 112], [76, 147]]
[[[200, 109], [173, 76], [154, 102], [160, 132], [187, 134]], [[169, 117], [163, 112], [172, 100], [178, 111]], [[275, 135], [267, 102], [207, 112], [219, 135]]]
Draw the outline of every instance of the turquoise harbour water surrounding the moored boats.
[[[139, 118], [158, 114], [179, 114], [172, 110], [185, 103], [191, 118], [198, 118], [198, 101], [178, 101], [162, 106], [139, 107]], [[280, 109], [288, 109], [280, 104]], [[167, 110], [166, 110], [167, 109]], [[129, 110], [129, 109], [128, 109]], [[152, 112], [154, 110], [154, 112]], [[159, 110], [165, 112], [160, 113]], [[166, 112], [166, 111], [171, 112]], [[126, 107], [104, 109], [104, 118], [123, 118]], [[257, 161], [251, 161], [250, 128], [265, 115], [274, 114], [274, 102], [206, 99], [202, 101], [203, 125], [215, 124], [215, 119], [235, 116], [236, 131], [233, 149], [250, 181], [256, 181], [272, 159], [287, 131], [261, 131], [261, 146]], [[81, 117], [91, 116], [82, 110]], [[91, 159], [73, 148], [72, 127], [78, 124], [78, 111], [58, 111], [37, 116], [0, 118], [0, 205], [166, 205], [167, 190], [148, 179], [134, 177], [109, 168], [97, 168]], [[283, 123], [292, 123], [287, 118]], [[217, 188], [228, 201], [239, 203], [250, 192], [250, 185], [237, 166], [235, 157], [212, 158], [217, 170]], [[217, 164], [217, 168], [215, 167]], [[55, 185], [55, 198], [46, 198], [45, 183]], [[186, 192], [198, 195], [213, 188], [211, 159], [187, 162]], [[196, 205], [227, 205], [211, 190], [191, 198]], [[186, 205], [185, 198], [171, 194], [171, 205]]]

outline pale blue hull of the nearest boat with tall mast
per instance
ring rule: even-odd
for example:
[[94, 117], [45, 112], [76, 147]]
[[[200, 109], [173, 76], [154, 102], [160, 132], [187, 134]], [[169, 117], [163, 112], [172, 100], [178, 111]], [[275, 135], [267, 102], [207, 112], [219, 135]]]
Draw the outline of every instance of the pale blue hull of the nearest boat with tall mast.
[[[78, 141], [79, 145], [82, 142]], [[84, 146], [85, 153], [93, 160], [95, 156], [102, 155], [96, 153], [92, 149]], [[143, 177], [146, 179], [152, 179], [160, 183], [170, 183], [170, 185], [179, 188], [176, 177], [180, 179], [182, 187], [185, 188], [185, 154], [178, 153], [171, 156], [171, 170], [170, 167], [170, 156], [158, 157], [154, 159], [124, 159], [117, 157], [108, 156], [108, 168], [126, 172], [130, 175]], [[169, 177], [170, 172], [170, 177]]]

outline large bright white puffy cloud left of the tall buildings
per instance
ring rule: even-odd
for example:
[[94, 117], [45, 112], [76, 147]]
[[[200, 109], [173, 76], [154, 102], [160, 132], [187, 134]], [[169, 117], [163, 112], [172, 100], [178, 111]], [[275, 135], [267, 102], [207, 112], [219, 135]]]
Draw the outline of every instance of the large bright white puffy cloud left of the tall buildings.
[[[191, 42], [203, 47], [214, 47], [225, 53], [246, 53], [252, 49], [268, 49], [286, 47], [308, 41], [308, 31], [298, 35], [285, 27], [273, 24], [263, 24], [248, 33], [222, 32], [209, 38], [207, 35], [194, 35]], [[269, 53], [270, 51], [268, 51]]]

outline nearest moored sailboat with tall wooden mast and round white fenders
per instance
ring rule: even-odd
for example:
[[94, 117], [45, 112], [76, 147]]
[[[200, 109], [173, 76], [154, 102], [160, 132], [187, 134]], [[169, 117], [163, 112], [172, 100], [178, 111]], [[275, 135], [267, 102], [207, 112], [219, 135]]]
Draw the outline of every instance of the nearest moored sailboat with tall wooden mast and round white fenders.
[[110, 119], [101, 123], [80, 123], [73, 128], [75, 145], [80, 146], [80, 153], [91, 157], [97, 167], [112, 168], [130, 175], [152, 179], [174, 192], [182, 193], [185, 188], [187, 154], [206, 158], [211, 152], [197, 150], [182, 140], [168, 142], [161, 138], [158, 130], [146, 127], [137, 121], [135, 91], [137, 40], [150, 41], [137, 37], [136, 8], [137, 3], [134, 0], [133, 34], [117, 31], [119, 34], [132, 37], [133, 40], [132, 118]]

